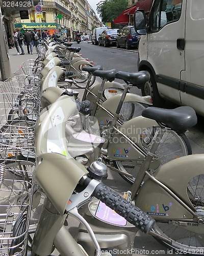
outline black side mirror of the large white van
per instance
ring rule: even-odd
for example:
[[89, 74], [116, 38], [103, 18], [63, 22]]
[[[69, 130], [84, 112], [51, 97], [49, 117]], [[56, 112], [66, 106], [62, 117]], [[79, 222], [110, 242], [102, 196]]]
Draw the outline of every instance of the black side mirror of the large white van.
[[140, 35], [146, 35], [146, 21], [144, 10], [136, 10], [134, 14], [135, 31]]

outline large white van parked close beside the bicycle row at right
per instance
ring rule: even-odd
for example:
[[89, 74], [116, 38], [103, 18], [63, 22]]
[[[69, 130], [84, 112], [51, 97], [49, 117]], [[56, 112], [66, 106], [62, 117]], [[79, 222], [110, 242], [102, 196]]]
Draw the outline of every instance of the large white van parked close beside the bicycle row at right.
[[151, 95], [156, 106], [168, 99], [204, 116], [203, 27], [203, 0], [154, 0], [148, 23], [143, 10], [135, 12], [142, 35], [138, 70], [151, 75], [142, 95]]

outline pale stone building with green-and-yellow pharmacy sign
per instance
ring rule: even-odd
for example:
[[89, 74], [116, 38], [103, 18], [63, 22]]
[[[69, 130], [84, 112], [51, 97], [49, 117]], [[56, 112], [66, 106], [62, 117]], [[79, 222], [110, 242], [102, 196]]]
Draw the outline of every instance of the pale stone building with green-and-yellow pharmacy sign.
[[[42, 11], [36, 11], [36, 6], [40, 5]], [[99, 20], [92, 15], [92, 8], [87, 0], [31, 0], [29, 18], [15, 19], [15, 27], [23, 32], [25, 29], [37, 28], [39, 32], [44, 30], [58, 33], [61, 37], [74, 38], [77, 32], [82, 35], [91, 34], [92, 26], [99, 26]]]

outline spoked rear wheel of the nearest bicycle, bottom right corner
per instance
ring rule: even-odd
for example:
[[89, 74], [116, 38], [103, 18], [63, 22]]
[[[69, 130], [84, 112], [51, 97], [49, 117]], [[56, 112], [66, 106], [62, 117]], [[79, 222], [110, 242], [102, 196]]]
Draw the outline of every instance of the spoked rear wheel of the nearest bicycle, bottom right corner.
[[[196, 214], [203, 219], [204, 211], [204, 175], [194, 177], [187, 185], [189, 199], [195, 207]], [[189, 224], [186, 222], [186, 224]], [[194, 224], [194, 231], [188, 230], [185, 226], [178, 225], [175, 221], [156, 222], [154, 232], [171, 241], [171, 245], [158, 240], [164, 246], [174, 249], [177, 254], [204, 254], [204, 227], [203, 224]], [[200, 226], [201, 225], [201, 226]], [[188, 227], [188, 225], [187, 225]], [[201, 229], [200, 229], [201, 227]], [[198, 230], [198, 232], [196, 232]], [[203, 230], [203, 232], [201, 232]]]

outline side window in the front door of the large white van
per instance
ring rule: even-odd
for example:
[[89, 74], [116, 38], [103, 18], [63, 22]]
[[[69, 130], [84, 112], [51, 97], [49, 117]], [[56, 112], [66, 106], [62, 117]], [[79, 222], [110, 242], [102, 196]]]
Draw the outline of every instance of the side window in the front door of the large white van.
[[183, 0], [156, 0], [150, 13], [151, 31], [157, 32], [181, 16]]

